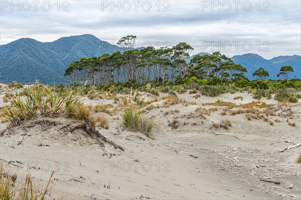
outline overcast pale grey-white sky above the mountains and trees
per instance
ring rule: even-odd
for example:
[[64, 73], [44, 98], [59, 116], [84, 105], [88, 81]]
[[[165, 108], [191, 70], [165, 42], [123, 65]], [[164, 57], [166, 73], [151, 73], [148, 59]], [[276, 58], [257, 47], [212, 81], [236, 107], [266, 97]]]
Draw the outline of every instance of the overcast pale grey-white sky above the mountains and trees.
[[301, 54], [300, 1], [1, 1], [2, 44], [20, 38], [50, 42], [92, 34], [116, 44], [137, 36], [137, 47], [190, 44], [226, 56], [266, 59]]

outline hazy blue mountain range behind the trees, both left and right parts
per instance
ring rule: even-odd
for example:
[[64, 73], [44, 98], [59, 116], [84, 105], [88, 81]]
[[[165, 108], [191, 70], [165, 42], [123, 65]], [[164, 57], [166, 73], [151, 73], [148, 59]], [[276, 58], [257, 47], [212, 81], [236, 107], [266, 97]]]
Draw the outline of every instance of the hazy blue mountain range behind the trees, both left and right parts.
[[[68, 83], [64, 77], [65, 69], [75, 60], [99, 57], [122, 50], [93, 35], [63, 37], [54, 42], [42, 43], [30, 38], [22, 38], [1, 45], [0, 81], [22, 83], [39, 80], [45, 84]], [[204, 55], [208, 53], [200, 53]], [[301, 56], [279, 56], [266, 60], [257, 54], [233, 56], [232, 60], [247, 68], [247, 76], [263, 67], [269, 73], [269, 79], [277, 79], [276, 74], [283, 65], [290, 65], [294, 72], [290, 78], [301, 78]]]

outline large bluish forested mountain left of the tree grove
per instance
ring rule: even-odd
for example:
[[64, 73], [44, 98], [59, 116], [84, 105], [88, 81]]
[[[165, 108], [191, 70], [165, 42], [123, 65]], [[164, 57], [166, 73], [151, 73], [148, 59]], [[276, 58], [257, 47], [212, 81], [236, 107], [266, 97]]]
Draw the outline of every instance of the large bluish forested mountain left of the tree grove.
[[92, 35], [64, 37], [47, 43], [22, 38], [1, 45], [0, 81], [68, 83], [64, 73], [72, 62], [117, 50], [120, 48]]

